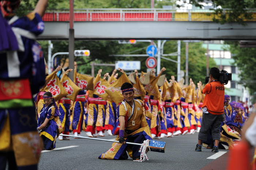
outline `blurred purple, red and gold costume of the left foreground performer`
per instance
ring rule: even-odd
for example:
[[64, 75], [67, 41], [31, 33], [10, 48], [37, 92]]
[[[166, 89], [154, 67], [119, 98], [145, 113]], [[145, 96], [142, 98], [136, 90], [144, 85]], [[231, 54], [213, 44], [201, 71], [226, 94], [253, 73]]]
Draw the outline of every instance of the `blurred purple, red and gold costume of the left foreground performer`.
[[[8, 19], [10, 26], [0, 12], [0, 169], [7, 162], [9, 169], [37, 169], [42, 140], [36, 130], [32, 94], [45, 84], [45, 65], [41, 46], [34, 39], [44, 31], [44, 23], [37, 13]], [[14, 44], [17, 48], [2, 47]]]

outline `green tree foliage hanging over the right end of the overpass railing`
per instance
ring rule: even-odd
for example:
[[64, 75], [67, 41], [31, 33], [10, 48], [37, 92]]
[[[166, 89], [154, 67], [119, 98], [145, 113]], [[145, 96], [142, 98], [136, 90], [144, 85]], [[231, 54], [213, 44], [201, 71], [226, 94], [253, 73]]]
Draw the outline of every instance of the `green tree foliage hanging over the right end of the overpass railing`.
[[[204, 1], [205, 0], [189, 0], [189, 4], [203, 8], [202, 3], [204, 3]], [[250, 20], [253, 17], [253, 13], [248, 9], [256, 8], [256, 0], [211, 0], [211, 2], [212, 10], [214, 11], [213, 20], [221, 24], [237, 22], [245, 25], [245, 20]], [[186, 1], [184, 1], [184, 4], [185, 3]], [[180, 6], [182, 5], [177, 5], [177, 7]]]

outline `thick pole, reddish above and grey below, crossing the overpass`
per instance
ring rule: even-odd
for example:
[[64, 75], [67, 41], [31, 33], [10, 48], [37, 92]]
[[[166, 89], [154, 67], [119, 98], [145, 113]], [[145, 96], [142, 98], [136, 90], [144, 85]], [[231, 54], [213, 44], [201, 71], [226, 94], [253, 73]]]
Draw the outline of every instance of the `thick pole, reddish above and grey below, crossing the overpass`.
[[[69, 0], [69, 39], [68, 39], [68, 58], [69, 69], [74, 69], [74, 50], [75, 50], [75, 30], [74, 30], [74, 0]], [[74, 72], [69, 72], [68, 77], [74, 80]]]

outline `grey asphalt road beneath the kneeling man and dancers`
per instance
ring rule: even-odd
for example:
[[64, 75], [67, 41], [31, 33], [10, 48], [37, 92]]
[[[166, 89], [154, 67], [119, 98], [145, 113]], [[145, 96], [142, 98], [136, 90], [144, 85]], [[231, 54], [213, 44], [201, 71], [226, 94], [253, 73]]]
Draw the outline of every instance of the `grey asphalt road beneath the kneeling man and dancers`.
[[[70, 134], [73, 135], [73, 134]], [[87, 137], [85, 132], [81, 135]], [[210, 149], [202, 148], [202, 152], [196, 152], [197, 135], [180, 135], [173, 138], [154, 139], [166, 142], [165, 153], [148, 152], [148, 161], [133, 162], [128, 160], [102, 160], [98, 156], [109, 150], [112, 142], [90, 139], [59, 140], [52, 151], [42, 151], [39, 170], [200, 170], [200, 169], [225, 169], [228, 150], [219, 150], [223, 154], [217, 159], [216, 153]], [[114, 140], [114, 136], [105, 133], [101, 139]], [[71, 147], [74, 146], [74, 147]], [[70, 148], [63, 148], [70, 147]], [[207, 159], [208, 158], [208, 159]]]

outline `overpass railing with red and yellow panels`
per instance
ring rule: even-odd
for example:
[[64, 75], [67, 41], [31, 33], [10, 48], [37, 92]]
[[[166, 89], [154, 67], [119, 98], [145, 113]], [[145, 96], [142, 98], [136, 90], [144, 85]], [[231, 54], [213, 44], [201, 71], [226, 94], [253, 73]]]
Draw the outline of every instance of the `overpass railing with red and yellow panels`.
[[[256, 9], [248, 9], [256, 21]], [[164, 8], [90, 8], [74, 9], [74, 21], [212, 21], [213, 11]], [[215, 16], [216, 18], [216, 16]], [[48, 9], [44, 21], [69, 21], [68, 9]]]

